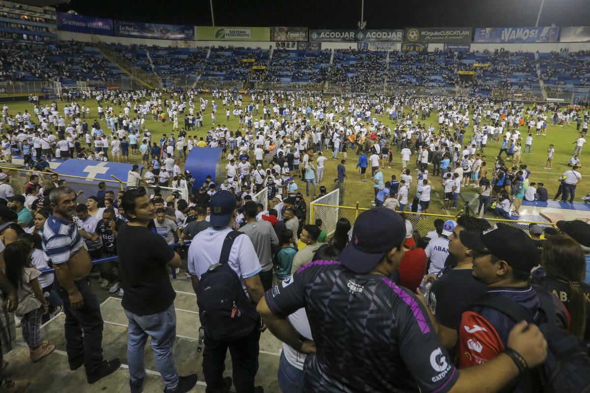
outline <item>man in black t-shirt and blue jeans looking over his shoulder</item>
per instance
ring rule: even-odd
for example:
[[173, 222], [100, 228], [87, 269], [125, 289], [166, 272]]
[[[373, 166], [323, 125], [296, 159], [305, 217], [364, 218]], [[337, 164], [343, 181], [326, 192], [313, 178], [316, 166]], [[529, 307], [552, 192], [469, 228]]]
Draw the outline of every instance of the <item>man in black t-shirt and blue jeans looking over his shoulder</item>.
[[122, 306], [129, 321], [127, 362], [132, 393], [142, 392], [145, 366], [143, 351], [148, 339], [165, 393], [184, 393], [196, 385], [196, 374], [179, 377], [172, 358], [176, 339], [176, 312], [168, 266], [181, 266], [174, 252], [154, 227], [156, 209], [143, 187], [127, 191], [121, 204], [127, 220], [117, 237], [120, 275], [124, 290]]

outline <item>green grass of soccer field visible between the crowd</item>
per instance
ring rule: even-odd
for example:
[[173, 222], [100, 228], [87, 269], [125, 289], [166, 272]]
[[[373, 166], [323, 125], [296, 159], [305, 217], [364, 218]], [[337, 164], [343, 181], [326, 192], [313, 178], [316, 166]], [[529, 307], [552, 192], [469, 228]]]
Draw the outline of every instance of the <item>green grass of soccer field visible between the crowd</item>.
[[[201, 137], [205, 136], [209, 127], [211, 127], [211, 95], [202, 95], [203, 98], [209, 100], [209, 105], [207, 110], [205, 110], [205, 114], [203, 116], [204, 127], [198, 131], [191, 131], [188, 135], [192, 135], [194, 137]], [[250, 96], [244, 94], [244, 103], [250, 102]], [[42, 104], [46, 104], [47, 101], [42, 101]], [[87, 122], [90, 124], [93, 122], [94, 118], [97, 118], [97, 105], [95, 100], [87, 100], [86, 105], [90, 106], [90, 121], [88, 119]], [[12, 115], [17, 114], [18, 111], [24, 112], [24, 110], [28, 110], [32, 112], [33, 105], [28, 104], [26, 102], [21, 103], [9, 103], [9, 113]], [[58, 105], [58, 108], [61, 110], [63, 108], [63, 103]], [[238, 128], [238, 119], [234, 118], [233, 116], [230, 117], [230, 121], [226, 121], [226, 117], [224, 115], [225, 111], [221, 110], [220, 107], [217, 113], [217, 121], [216, 123], [225, 124], [230, 130], [237, 130]], [[117, 108], [114, 108], [115, 113], [118, 113]], [[471, 111], [472, 112], [472, 111]], [[257, 118], [256, 116], [254, 118]], [[258, 116], [261, 118], [261, 115]], [[390, 121], [386, 117], [378, 117], [386, 125], [393, 125], [392, 121]], [[427, 118], [425, 122], [427, 126], [433, 124], [435, 127], [438, 127], [438, 121], [436, 114], [433, 112], [430, 118]], [[471, 122], [473, 123], [473, 121]], [[484, 123], [484, 122], [483, 122]], [[106, 127], [106, 123], [103, 121], [103, 128], [108, 130]], [[179, 121], [179, 127], [182, 127], [183, 121]], [[151, 116], [146, 120], [146, 128], [152, 133], [152, 140], [158, 141], [162, 134], [175, 134], [178, 136], [178, 131], [172, 131], [172, 124], [169, 124], [168, 119], [166, 119], [165, 124], [162, 124], [161, 121], [154, 121], [152, 120]], [[522, 126], [520, 127], [521, 137], [523, 138], [523, 147], [524, 147], [524, 138], [526, 136], [527, 127]], [[243, 134], [243, 131], [242, 131]], [[467, 143], [469, 138], [473, 135], [473, 124], [467, 128], [467, 134], [464, 139], [464, 144]], [[533, 133], [533, 153], [523, 153], [522, 154], [522, 164], [527, 164], [528, 169], [532, 171], [530, 175], [530, 181], [535, 182], [542, 182], [545, 183], [545, 187], [549, 190], [549, 197], [550, 199], [555, 195], [558, 186], [559, 186], [559, 177], [560, 175], [569, 169], [567, 166], [569, 158], [572, 157], [573, 148], [575, 146], [575, 140], [579, 137], [578, 131], [576, 131], [575, 122], [571, 123], [569, 126], [552, 126], [549, 124], [547, 128], [547, 135], [546, 136], [535, 136]], [[545, 166], [546, 161], [546, 150], [549, 144], [553, 144], [555, 146], [555, 157], [553, 158], [553, 169], [543, 169]], [[586, 162], [585, 159], [588, 157], [588, 149], [589, 147], [584, 147], [581, 154], [581, 164], [582, 167], [579, 169], [580, 173], [582, 174], [582, 180], [579, 181], [578, 187], [576, 189], [576, 202], [581, 202], [581, 197], [584, 196], [586, 193], [590, 191], [590, 182], [586, 181]], [[484, 151], [484, 155], [487, 156], [487, 163], [489, 168], [490, 174], [490, 166], [493, 168], [493, 163], [495, 157], [497, 156], [500, 150], [500, 143], [499, 142], [492, 142], [488, 141], [486, 150]], [[333, 180], [336, 178], [336, 166], [340, 163], [340, 159], [342, 158], [342, 153], [339, 154], [338, 160], [332, 160], [332, 154], [329, 150], [324, 150], [324, 155], [329, 158], [326, 161], [325, 169], [324, 169], [324, 180], [321, 184], [316, 186], [316, 193], [319, 193], [319, 186], [326, 186], [328, 191], [333, 189]], [[317, 157], [317, 156], [316, 156]], [[389, 180], [391, 179], [391, 175], [395, 174], [399, 179], [399, 174], [401, 173], [401, 158], [399, 153], [394, 150], [394, 161], [392, 162], [392, 168], [382, 169], [383, 170], [383, 179]], [[415, 154], [412, 155], [411, 161], [408, 164], [408, 168], [412, 170], [412, 177], [416, 178], [416, 172], [414, 171], [415, 168]], [[504, 155], [505, 157], [505, 155]], [[355, 206], [356, 203], [359, 203], [359, 207], [371, 207], [371, 203], [373, 200], [373, 186], [372, 182], [360, 182], [358, 176], [358, 170], [355, 169], [356, 163], [358, 158], [352, 151], [349, 151], [348, 160], [346, 164], [347, 170], [347, 180], [346, 180], [346, 192], [344, 198], [344, 205], [345, 206]], [[131, 163], [140, 163], [140, 156], [130, 156], [129, 161]], [[510, 164], [511, 161], [507, 161], [507, 165]], [[431, 167], [431, 166], [430, 166]], [[304, 193], [305, 184], [303, 181], [296, 181], [297, 185], [299, 186], [299, 190]], [[442, 214], [455, 214], [458, 210], [444, 210], [442, 209], [441, 204], [441, 197], [442, 197], [442, 186], [440, 184], [440, 179], [434, 179], [432, 176], [429, 177], [429, 183], [432, 186], [432, 200], [430, 204], [430, 209], [428, 209], [429, 213], [442, 213]], [[464, 187], [461, 191], [461, 195], [466, 200], [473, 200], [476, 198], [476, 188], [472, 187]], [[415, 182], [412, 182], [411, 189], [409, 191], [409, 202], [412, 201], [413, 197], [415, 196], [416, 188]], [[306, 198], [307, 202], [309, 203], [309, 198]], [[474, 206], [475, 204], [475, 206]], [[461, 206], [461, 203], [458, 205]], [[471, 207], [477, 208], [477, 202], [473, 202]], [[493, 217], [493, 213], [489, 214], [490, 217]]]

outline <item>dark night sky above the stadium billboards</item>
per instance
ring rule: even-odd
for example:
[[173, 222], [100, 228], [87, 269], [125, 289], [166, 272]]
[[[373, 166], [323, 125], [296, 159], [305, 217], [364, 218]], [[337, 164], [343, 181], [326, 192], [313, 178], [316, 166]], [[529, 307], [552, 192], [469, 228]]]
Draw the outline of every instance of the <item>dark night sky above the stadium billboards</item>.
[[[138, 6], [140, 4], [140, 6]], [[219, 26], [356, 28], [361, 0], [213, 0]], [[534, 26], [541, 0], [365, 0], [366, 28]], [[211, 25], [208, 0], [71, 0], [59, 11], [127, 21]], [[588, 0], [545, 0], [540, 26], [590, 24]]]

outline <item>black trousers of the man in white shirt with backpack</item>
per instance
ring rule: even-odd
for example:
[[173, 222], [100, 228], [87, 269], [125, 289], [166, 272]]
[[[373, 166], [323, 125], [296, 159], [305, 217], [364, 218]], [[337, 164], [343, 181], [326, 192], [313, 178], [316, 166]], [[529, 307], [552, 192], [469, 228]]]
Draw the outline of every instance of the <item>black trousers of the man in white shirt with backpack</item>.
[[203, 375], [207, 382], [207, 393], [224, 391], [223, 372], [225, 356], [230, 349], [232, 377], [236, 393], [254, 393], [254, 377], [258, 372], [258, 351], [260, 331], [254, 329], [244, 338], [230, 342], [215, 342], [205, 335], [203, 351]]

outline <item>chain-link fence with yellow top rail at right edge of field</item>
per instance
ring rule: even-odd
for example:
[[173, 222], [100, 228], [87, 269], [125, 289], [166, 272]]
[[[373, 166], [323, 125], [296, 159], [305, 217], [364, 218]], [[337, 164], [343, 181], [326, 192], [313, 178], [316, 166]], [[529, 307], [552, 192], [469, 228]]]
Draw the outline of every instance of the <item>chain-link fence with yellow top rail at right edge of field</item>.
[[[336, 202], [337, 202], [336, 197]], [[310, 204], [310, 223], [314, 223], [315, 219], [322, 219], [323, 227], [328, 233], [328, 236], [332, 235], [329, 232], [326, 225], [334, 225], [336, 226], [336, 222], [338, 219], [345, 217], [349, 220], [350, 224], [354, 225], [356, 221], [356, 217], [359, 216], [360, 213], [364, 212], [366, 209], [364, 207], [352, 207], [352, 206], [338, 206], [337, 203], [318, 203], [324, 202], [315, 200], [312, 204]], [[332, 202], [332, 200], [330, 200]], [[420, 236], [425, 236], [428, 232], [435, 229], [434, 221], [437, 219], [441, 219], [444, 221], [447, 220], [456, 220], [458, 216], [460, 216], [463, 212], [459, 212], [457, 216], [450, 216], [447, 214], [431, 214], [431, 213], [411, 213], [411, 212], [404, 212], [405, 218], [412, 223], [412, 227], [414, 230], [417, 230]], [[525, 232], [528, 232], [530, 224], [538, 224], [540, 227], [552, 227], [555, 223], [551, 222], [536, 222], [536, 221], [516, 221], [516, 220], [506, 220], [506, 219], [490, 219], [486, 218], [486, 220], [490, 223], [491, 226], [494, 226], [496, 223], [504, 223], [518, 229], [522, 229]]]

